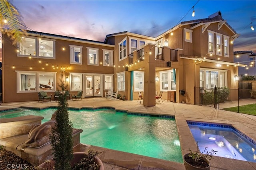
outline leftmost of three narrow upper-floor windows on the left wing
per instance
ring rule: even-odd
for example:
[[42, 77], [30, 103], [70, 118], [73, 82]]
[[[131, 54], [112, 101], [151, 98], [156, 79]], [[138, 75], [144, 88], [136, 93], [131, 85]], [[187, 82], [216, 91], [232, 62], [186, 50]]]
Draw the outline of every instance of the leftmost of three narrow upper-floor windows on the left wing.
[[69, 45], [70, 64], [82, 64], [82, 46]]

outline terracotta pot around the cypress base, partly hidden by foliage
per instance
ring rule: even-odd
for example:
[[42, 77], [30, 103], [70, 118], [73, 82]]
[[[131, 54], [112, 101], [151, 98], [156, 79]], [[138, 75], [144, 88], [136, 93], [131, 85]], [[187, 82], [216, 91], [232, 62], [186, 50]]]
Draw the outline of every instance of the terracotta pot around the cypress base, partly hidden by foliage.
[[[78, 163], [82, 158], [85, 157], [85, 152], [74, 152], [73, 155], [74, 155], [74, 158], [73, 158], [73, 160], [71, 160], [72, 167], [74, 167], [75, 163]], [[102, 161], [100, 160], [100, 158], [98, 158], [98, 156], [95, 157], [95, 163], [100, 164], [100, 170], [105, 170], [104, 165], [103, 165]], [[46, 164], [44, 162], [44, 163], [40, 164], [38, 167], [48, 170], [48, 169], [51, 169], [51, 167], [53, 167], [54, 164], [55, 164], [55, 162], [53, 160], [51, 160], [49, 162], [49, 164]]]

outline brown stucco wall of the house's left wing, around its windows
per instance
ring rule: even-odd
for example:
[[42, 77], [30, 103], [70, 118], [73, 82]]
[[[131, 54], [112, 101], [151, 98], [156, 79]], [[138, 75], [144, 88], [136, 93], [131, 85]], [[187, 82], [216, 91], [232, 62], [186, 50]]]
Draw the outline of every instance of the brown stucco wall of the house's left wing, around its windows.
[[[104, 73], [104, 74], [114, 74], [114, 67], [112, 66], [99, 66], [87, 65], [87, 48], [98, 48], [99, 49], [99, 61], [103, 61], [103, 50], [114, 50], [114, 47], [108, 47], [104, 45], [89, 44], [89, 43], [80, 43], [74, 41], [66, 40], [56, 40], [56, 58], [55, 59], [39, 59], [33, 58], [29, 59], [28, 57], [17, 57], [16, 47], [11, 44], [11, 41], [7, 41], [9, 38], [4, 34], [3, 35], [6, 41], [2, 43], [2, 56], [3, 56], [3, 65], [2, 65], [2, 99], [3, 102], [20, 102], [20, 101], [34, 101], [38, 100], [38, 92], [24, 92], [17, 93], [16, 85], [16, 71], [44, 71], [44, 72], [56, 72], [56, 82], [58, 83], [61, 75], [61, 67], [66, 67], [64, 71], [64, 76], [69, 76], [70, 72], [78, 73]], [[69, 45], [78, 45], [83, 46], [82, 48], [82, 61], [83, 64], [70, 64], [70, 50]], [[62, 47], [65, 47], [65, 51], [62, 51]], [[42, 61], [42, 63], [39, 63]], [[49, 65], [46, 66], [46, 63]], [[58, 66], [59, 69], [53, 69], [52, 65], [55, 67]], [[15, 68], [12, 68], [15, 66]], [[32, 69], [30, 69], [30, 66]], [[42, 69], [44, 67], [44, 70]], [[67, 90], [70, 90], [69, 83], [67, 83]], [[56, 86], [58, 88], [58, 86]], [[47, 92], [54, 96], [54, 92]], [[72, 92], [76, 94], [76, 92]], [[53, 97], [52, 97], [53, 99]]]

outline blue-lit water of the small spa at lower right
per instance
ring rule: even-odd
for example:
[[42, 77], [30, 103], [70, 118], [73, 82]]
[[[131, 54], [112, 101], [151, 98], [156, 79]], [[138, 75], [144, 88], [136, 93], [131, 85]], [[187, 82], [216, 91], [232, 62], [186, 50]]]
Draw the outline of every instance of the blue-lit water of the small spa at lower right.
[[256, 162], [256, 145], [240, 135], [232, 126], [207, 123], [200, 125], [192, 122], [188, 124], [201, 152], [207, 147], [206, 151], [218, 151], [216, 156]]

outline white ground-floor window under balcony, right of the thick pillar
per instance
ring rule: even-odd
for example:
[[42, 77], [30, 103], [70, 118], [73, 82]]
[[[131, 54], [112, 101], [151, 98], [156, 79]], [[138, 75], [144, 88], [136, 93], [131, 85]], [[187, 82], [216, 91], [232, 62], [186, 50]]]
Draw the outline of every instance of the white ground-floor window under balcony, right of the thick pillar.
[[168, 90], [176, 90], [176, 75], [172, 70], [160, 72], [160, 90], [167, 92]]

